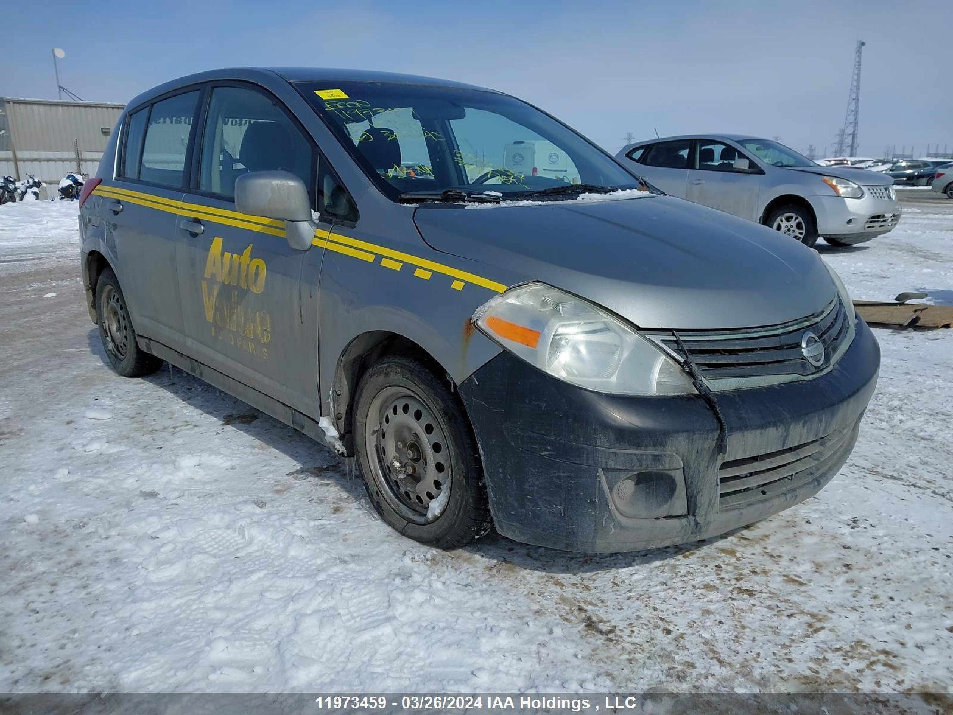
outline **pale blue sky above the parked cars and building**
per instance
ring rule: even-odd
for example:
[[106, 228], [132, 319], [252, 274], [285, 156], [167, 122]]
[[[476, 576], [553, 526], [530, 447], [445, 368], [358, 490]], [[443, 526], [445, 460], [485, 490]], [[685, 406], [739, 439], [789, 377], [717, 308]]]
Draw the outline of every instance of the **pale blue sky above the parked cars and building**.
[[625, 133], [658, 128], [780, 136], [823, 152], [862, 38], [859, 153], [953, 152], [950, 0], [9, 5], [0, 94], [54, 97], [53, 47], [67, 52], [63, 85], [87, 100], [126, 102], [234, 65], [413, 72], [514, 93], [613, 151]]

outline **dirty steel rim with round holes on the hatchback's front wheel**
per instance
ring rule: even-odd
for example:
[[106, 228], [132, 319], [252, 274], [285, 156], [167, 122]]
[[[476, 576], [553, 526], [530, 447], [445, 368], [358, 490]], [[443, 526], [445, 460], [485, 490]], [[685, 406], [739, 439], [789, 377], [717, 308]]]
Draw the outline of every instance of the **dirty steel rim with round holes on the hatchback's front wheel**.
[[430, 521], [431, 503], [449, 499], [454, 471], [435, 411], [409, 388], [385, 387], [371, 402], [364, 439], [384, 498], [407, 521]]

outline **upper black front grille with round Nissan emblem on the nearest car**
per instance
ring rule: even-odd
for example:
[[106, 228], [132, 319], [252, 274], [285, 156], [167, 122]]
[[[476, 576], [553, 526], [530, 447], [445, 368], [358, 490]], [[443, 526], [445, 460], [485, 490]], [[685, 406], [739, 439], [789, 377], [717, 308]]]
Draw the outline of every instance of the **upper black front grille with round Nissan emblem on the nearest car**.
[[[813, 365], [801, 342], [813, 333], [823, 345], [821, 364]], [[679, 337], [712, 389], [735, 389], [784, 378], [810, 377], [829, 367], [839, 357], [852, 335], [847, 312], [835, 298], [820, 313], [781, 325], [743, 331], [679, 331]], [[679, 358], [684, 358], [679, 342], [671, 333], [652, 336]], [[813, 343], [808, 339], [808, 344]], [[719, 382], [719, 380], [729, 380]]]

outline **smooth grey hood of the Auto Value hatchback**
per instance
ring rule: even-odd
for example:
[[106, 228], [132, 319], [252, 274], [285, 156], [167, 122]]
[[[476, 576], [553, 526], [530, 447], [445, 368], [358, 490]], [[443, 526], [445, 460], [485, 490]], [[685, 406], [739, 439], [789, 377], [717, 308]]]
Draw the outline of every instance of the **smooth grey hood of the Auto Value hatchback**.
[[426, 204], [414, 218], [437, 251], [543, 281], [642, 328], [772, 325], [817, 313], [837, 295], [813, 250], [671, 196]]

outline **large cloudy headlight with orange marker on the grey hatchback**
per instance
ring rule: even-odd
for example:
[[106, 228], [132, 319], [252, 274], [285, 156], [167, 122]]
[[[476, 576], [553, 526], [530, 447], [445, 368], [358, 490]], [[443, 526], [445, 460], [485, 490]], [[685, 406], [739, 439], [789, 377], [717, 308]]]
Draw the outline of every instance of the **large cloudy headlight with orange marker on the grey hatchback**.
[[530, 283], [491, 298], [474, 323], [519, 358], [579, 387], [614, 395], [691, 395], [678, 362], [597, 305]]

